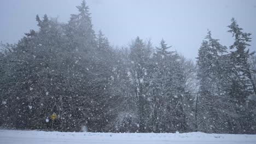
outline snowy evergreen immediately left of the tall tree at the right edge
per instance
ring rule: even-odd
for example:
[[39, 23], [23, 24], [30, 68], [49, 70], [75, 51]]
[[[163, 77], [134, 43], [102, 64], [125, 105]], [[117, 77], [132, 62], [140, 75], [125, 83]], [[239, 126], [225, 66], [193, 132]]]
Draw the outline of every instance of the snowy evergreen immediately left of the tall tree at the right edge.
[[231, 99], [227, 94], [229, 87], [229, 74], [226, 66], [229, 61], [225, 55], [227, 48], [220, 45], [218, 41], [218, 39], [213, 39], [211, 31], [208, 31], [197, 57], [199, 95], [196, 111], [201, 116], [196, 127], [199, 123], [201, 126], [205, 124], [203, 126], [205, 130], [213, 133], [227, 130], [229, 125], [225, 123], [228, 123], [228, 118], [234, 116]]

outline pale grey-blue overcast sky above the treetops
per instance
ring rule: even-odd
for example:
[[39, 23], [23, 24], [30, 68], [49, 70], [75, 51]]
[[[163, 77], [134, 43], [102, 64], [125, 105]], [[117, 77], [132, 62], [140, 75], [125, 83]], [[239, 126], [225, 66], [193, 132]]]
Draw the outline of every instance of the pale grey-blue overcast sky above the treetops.
[[[0, 41], [16, 43], [25, 32], [38, 29], [36, 15], [59, 17], [67, 22], [77, 14], [82, 0], [0, 0]], [[87, 0], [92, 23], [112, 45], [125, 46], [137, 36], [158, 46], [165, 39], [172, 49], [195, 59], [207, 28], [220, 43], [232, 44], [227, 33], [231, 17], [245, 32], [252, 33], [256, 51], [256, 1]]]

